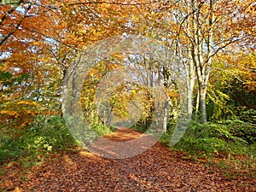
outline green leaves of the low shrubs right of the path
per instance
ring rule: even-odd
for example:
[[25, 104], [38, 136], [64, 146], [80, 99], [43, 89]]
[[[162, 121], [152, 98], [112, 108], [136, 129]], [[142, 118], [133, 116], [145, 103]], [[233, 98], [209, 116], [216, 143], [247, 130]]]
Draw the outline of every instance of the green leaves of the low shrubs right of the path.
[[187, 152], [195, 158], [227, 157], [230, 154], [250, 153], [250, 144], [255, 143], [254, 140], [250, 139], [255, 137], [256, 129], [253, 125], [235, 122], [230, 121], [229, 125], [212, 123], [201, 125], [197, 122], [191, 122], [183, 138], [174, 148]]

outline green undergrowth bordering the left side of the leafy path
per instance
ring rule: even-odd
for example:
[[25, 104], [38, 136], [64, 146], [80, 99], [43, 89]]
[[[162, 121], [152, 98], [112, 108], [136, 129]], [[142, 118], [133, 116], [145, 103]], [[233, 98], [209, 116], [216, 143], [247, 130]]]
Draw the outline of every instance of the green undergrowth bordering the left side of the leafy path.
[[[98, 136], [111, 133], [114, 128], [105, 125], [91, 127]], [[65, 120], [59, 115], [38, 116], [23, 130], [1, 127], [0, 163], [20, 161], [23, 166], [37, 164], [49, 153], [57, 154], [79, 145], [71, 135]]]

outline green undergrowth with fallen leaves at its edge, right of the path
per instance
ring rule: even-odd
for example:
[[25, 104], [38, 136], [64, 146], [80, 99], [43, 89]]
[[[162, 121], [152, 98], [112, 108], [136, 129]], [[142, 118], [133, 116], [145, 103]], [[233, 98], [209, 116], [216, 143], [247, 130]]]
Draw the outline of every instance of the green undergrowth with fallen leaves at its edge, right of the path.
[[235, 172], [255, 175], [255, 125], [241, 120], [204, 125], [191, 121], [180, 141], [171, 146], [173, 131], [174, 127], [163, 134], [160, 142], [166, 143], [173, 150], [183, 152], [183, 159], [213, 163], [227, 178], [234, 177]]

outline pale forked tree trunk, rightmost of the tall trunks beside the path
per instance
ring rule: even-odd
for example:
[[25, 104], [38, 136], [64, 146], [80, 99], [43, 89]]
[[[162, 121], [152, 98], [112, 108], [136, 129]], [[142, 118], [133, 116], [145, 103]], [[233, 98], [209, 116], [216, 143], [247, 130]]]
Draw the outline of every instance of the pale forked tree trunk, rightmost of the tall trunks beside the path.
[[[195, 65], [196, 75], [198, 79], [198, 89], [200, 96], [199, 111], [201, 115], [201, 123], [207, 122], [207, 83], [212, 65], [212, 36], [213, 28], [212, 23], [214, 20], [214, 0], [210, 0], [208, 4], [209, 17], [207, 20], [208, 33], [206, 34], [201, 30], [201, 3], [195, 0], [191, 0], [192, 4], [192, 29], [193, 29], [193, 41], [192, 43], [192, 58]], [[206, 50], [207, 48], [207, 50]]]

